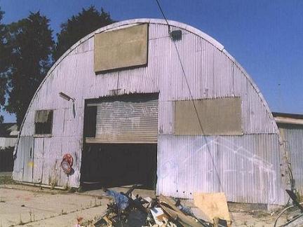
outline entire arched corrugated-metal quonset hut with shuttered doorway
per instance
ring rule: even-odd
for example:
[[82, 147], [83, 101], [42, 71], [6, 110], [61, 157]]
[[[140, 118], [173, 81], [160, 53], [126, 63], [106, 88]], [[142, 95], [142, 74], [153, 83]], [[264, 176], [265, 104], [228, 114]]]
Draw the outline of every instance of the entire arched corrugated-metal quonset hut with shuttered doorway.
[[22, 123], [15, 181], [285, 203], [284, 151], [257, 85], [215, 39], [168, 24], [116, 22], [55, 62]]

